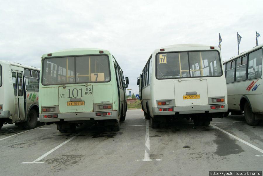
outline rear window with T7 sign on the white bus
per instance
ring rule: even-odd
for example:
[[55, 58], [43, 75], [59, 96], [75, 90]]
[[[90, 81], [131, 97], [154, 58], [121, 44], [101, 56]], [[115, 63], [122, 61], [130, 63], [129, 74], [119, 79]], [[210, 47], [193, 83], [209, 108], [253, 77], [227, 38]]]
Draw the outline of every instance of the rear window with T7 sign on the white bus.
[[219, 52], [191, 51], [156, 55], [156, 78], [222, 76]]

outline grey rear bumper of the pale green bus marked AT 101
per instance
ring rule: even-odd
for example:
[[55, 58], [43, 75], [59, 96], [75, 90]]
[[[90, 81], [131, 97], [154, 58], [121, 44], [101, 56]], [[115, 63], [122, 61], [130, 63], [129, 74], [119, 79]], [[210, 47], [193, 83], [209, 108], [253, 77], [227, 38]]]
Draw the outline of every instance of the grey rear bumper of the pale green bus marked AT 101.
[[[101, 113], [100, 116], [96, 113]], [[89, 120], [110, 120], [118, 119], [118, 111], [109, 111], [106, 115], [103, 115], [105, 112], [83, 112], [83, 113], [58, 113], [58, 114], [39, 114], [40, 122], [59, 122], [63, 121], [89, 121]], [[108, 115], [110, 113], [110, 115]], [[48, 118], [44, 117], [47, 115], [57, 115], [57, 118]]]

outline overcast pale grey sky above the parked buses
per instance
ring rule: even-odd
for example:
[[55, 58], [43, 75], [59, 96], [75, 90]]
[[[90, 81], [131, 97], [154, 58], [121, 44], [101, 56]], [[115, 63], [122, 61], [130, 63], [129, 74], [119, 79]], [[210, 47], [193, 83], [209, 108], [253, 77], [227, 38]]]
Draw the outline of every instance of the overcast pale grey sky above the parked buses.
[[[0, 0], [0, 60], [40, 68], [41, 56], [61, 49], [109, 50], [136, 79], [155, 49], [172, 44], [218, 46], [222, 60], [263, 43], [262, 0], [106, 1]], [[128, 94], [128, 92], [127, 92]]]

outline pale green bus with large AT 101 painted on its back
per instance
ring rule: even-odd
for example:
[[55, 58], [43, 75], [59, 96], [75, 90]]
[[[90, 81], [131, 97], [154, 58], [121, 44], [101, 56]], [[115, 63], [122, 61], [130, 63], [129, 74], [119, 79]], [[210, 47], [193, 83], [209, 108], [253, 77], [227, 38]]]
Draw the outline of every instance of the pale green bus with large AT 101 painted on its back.
[[[126, 84], [125, 84], [125, 82]], [[41, 61], [39, 119], [74, 132], [84, 122], [119, 131], [127, 111], [128, 77], [109, 51], [80, 48], [44, 54]]]

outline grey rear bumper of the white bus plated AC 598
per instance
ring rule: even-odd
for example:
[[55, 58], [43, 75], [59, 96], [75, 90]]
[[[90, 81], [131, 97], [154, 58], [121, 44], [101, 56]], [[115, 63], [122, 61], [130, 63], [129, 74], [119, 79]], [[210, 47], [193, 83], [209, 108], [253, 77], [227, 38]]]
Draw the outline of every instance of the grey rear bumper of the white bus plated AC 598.
[[[211, 109], [211, 106], [220, 106], [220, 108]], [[224, 106], [224, 108], [222, 108]], [[172, 108], [172, 111], [168, 109]], [[202, 114], [202, 113], [224, 113], [227, 111], [227, 104], [220, 105], [199, 105], [199, 106], [177, 106], [152, 108], [153, 115], [175, 115], [175, 114]], [[162, 110], [160, 110], [162, 109]], [[163, 109], [166, 109], [164, 111]], [[171, 110], [171, 109], [170, 109]]]

